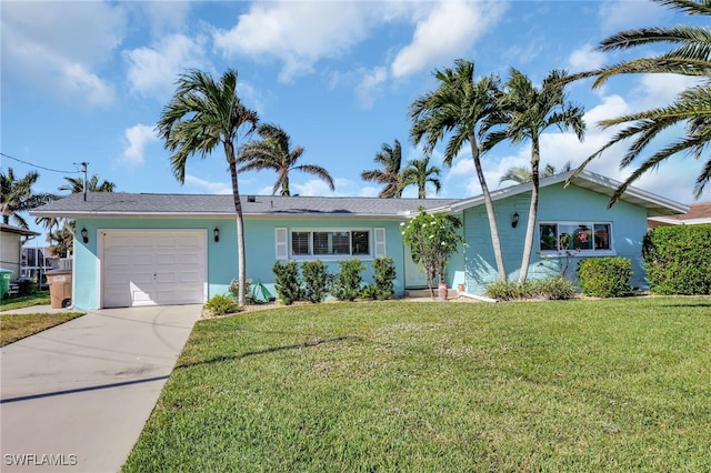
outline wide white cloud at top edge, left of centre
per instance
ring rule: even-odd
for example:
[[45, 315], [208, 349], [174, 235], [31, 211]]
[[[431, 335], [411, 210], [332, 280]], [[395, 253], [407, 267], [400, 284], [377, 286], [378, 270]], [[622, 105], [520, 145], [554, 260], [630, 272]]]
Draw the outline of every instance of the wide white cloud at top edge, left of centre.
[[321, 58], [334, 58], [367, 37], [378, 23], [379, 3], [291, 2], [253, 3], [230, 30], [218, 30], [214, 44], [227, 56], [276, 58], [288, 82], [312, 71]]

